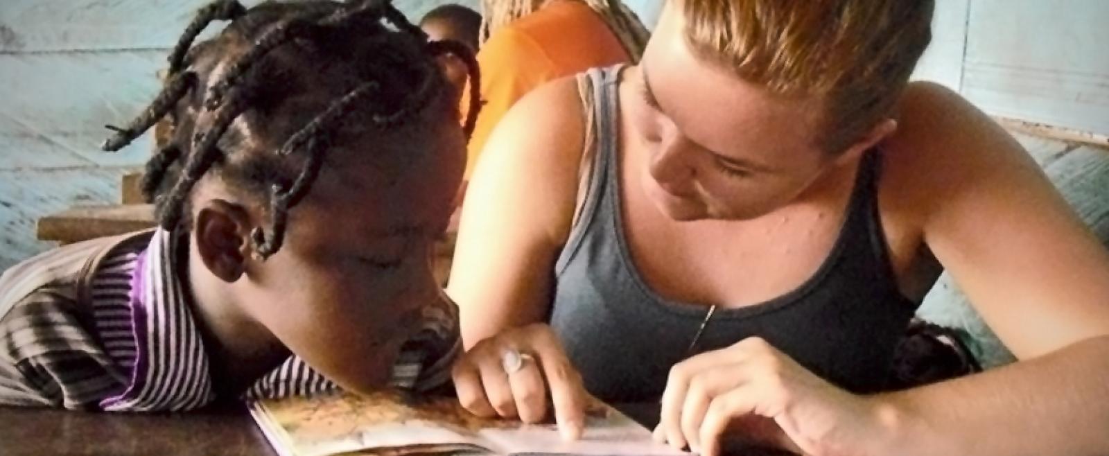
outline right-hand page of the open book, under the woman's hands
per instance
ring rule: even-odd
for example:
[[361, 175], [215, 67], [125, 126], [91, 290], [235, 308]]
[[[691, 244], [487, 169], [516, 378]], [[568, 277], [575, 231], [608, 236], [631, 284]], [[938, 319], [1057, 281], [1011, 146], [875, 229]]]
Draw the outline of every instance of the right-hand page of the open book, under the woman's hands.
[[600, 403], [587, 412], [586, 429], [577, 442], [564, 442], [553, 424], [486, 428], [478, 434], [503, 449], [502, 453], [511, 454], [689, 455], [669, 445], [655, 443], [650, 430]]

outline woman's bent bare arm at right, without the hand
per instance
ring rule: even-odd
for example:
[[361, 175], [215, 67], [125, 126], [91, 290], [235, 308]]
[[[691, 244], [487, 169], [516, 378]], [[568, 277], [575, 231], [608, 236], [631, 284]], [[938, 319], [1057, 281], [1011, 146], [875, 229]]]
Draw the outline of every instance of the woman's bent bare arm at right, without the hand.
[[929, 249], [1022, 361], [885, 396], [906, 429], [926, 429], [904, 448], [1109, 453], [1109, 253], [1020, 145], [965, 100], [917, 85], [903, 112], [889, 146], [904, 160], [883, 179], [917, 180], [916, 200], [932, 202], [922, 203]]

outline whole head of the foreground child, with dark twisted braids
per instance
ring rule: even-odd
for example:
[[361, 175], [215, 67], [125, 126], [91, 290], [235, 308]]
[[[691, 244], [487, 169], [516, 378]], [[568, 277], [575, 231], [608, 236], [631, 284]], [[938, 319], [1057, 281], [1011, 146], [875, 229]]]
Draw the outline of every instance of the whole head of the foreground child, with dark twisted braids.
[[[233, 21], [191, 45], [218, 19]], [[287, 348], [367, 391], [421, 310], [450, 305], [430, 264], [465, 165], [446, 52], [472, 60], [385, 1], [217, 2], [181, 38], [164, 91], [108, 141], [167, 120], [143, 190], [231, 359]]]

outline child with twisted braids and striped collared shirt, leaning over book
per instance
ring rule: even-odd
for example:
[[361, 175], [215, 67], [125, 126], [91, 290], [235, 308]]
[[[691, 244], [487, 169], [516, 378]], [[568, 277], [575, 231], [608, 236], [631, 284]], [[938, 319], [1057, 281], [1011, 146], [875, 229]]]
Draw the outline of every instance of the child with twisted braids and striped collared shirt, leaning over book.
[[[213, 20], [231, 23], [191, 48]], [[430, 257], [465, 136], [435, 58], [474, 59], [424, 37], [381, 1], [201, 10], [165, 89], [104, 144], [167, 121], [143, 185], [160, 226], [4, 273], [0, 404], [186, 411], [449, 381], [457, 312]], [[459, 387], [480, 388], [458, 366]], [[580, 399], [567, 378], [552, 394]]]

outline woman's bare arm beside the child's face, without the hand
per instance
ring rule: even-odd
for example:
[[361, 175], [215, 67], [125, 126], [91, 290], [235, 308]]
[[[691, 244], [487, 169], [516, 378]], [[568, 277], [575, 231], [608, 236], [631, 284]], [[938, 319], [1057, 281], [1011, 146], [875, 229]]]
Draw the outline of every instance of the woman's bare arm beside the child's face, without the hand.
[[497, 125], [466, 194], [447, 293], [467, 348], [541, 322], [569, 236], [582, 115], [573, 78], [528, 94]]

